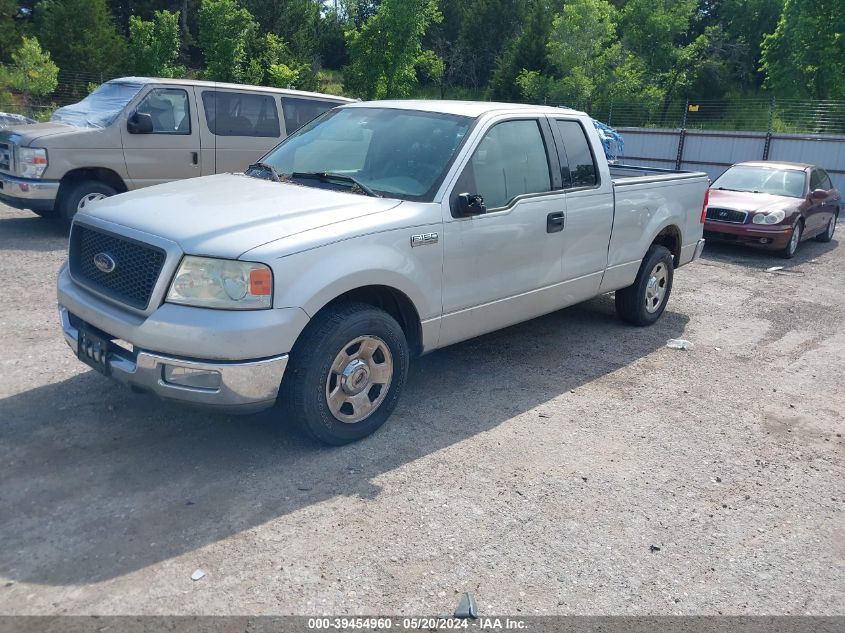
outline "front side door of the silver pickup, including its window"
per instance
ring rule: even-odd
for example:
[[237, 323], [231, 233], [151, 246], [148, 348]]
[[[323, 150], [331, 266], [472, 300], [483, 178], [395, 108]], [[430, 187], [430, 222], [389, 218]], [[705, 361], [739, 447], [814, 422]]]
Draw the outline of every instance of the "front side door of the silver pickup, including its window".
[[[561, 307], [566, 194], [554, 151], [545, 117], [505, 119], [463, 166], [444, 209], [439, 345]], [[460, 217], [462, 193], [481, 195], [486, 212]]]

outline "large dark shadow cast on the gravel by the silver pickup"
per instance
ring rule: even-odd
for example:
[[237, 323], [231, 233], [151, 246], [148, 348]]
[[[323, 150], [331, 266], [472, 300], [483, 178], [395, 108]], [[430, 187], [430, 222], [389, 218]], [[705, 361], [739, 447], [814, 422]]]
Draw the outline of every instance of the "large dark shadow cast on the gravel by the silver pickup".
[[662, 348], [687, 320], [630, 327], [604, 296], [435, 352], [412, 363], [387, 425], [343, 448], [273, 412], [215, 416], [92, 372], [0, 400], [0, 575], [102, 581], [339, 495], [375, 497], [380, 474]]

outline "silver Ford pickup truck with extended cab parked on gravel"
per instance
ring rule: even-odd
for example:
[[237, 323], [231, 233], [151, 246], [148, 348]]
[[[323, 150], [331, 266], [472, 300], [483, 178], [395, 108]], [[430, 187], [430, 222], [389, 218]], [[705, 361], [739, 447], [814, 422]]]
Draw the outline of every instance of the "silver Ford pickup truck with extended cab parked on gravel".
[[616, 291], [654, 323], [704, 245], [703, 173], [610, 167], [589, 117], [385, 101], [335, 108], [246, 173], [77, 214], [58, 278], [80, 360], [162, 398], [378, 429], [409, 359]]

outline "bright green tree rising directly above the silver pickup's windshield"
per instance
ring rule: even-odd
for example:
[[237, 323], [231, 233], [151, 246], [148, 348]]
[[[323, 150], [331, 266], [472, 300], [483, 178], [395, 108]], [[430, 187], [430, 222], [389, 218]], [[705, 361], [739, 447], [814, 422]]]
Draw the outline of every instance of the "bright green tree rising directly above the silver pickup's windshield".
[[428, 26], [442, 19], [437, 0], [383, 0], [375, 15], [348, 32], [344, 87], [368, 99], [407, 97]]

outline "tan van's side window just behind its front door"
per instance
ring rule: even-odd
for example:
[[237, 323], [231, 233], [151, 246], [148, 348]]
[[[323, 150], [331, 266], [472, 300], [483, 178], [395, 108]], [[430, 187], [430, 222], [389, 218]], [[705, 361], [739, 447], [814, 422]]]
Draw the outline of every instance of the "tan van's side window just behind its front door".
[[279, 113], [269, 95], [207, 90], [202, 105], [208, 129], [216, 136], [281, 136]]

